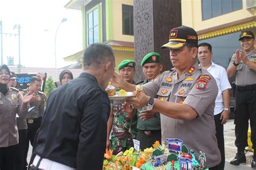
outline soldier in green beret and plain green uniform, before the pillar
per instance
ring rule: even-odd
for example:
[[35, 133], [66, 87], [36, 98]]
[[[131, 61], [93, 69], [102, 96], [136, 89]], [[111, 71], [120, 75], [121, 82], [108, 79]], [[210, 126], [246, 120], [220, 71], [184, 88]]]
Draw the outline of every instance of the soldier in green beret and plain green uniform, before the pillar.
[[[142, 67], [146, 80], [137, 84], [143, 85], [154, 79], [160, 74], [163, 65], [160, 63], [161, 56], [159, 53], [151, 52], [144, 56], [140, 66]], [[137, 116], [139, 117], [137, 128], [137, 140], [140, 141], [140, 149], [149, 148], [155, 141], [161, 141], [161, 123], [159, 112], [152, 111], [150, 114], [143, 114], [141, 111], [145, 108], [138, 109]]]

